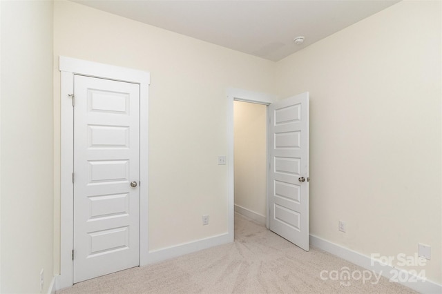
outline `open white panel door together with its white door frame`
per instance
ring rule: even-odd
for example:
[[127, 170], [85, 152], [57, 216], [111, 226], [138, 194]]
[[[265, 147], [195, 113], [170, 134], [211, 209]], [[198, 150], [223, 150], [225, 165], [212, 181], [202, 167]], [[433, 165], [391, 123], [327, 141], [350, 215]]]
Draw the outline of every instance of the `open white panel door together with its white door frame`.
[[309, 92], [276, 101], [276, 97], [230, 89], [228, 121], [229, 235], [233, 242], [234, 215], [234, 102], [268, 107], [266, 227], [309, 251]]

